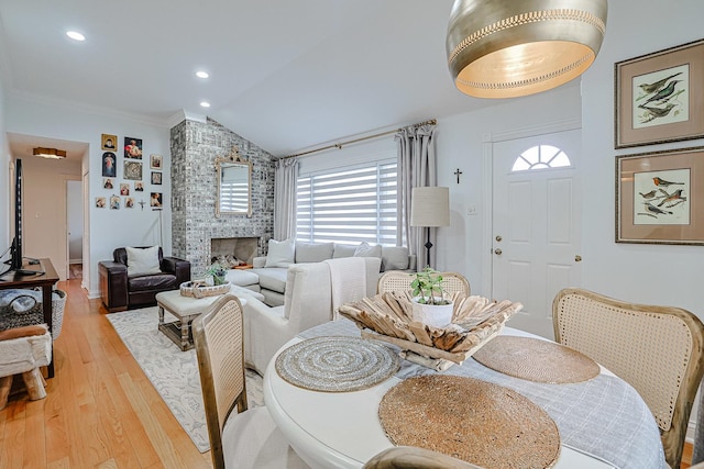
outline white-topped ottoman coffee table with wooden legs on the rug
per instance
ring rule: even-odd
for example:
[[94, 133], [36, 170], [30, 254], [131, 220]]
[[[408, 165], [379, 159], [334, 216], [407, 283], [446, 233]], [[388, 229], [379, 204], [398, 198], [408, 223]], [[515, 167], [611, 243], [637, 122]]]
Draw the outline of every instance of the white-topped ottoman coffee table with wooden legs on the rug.
[[[234, 293], [232, 289], [229, 293]], [[156, 293], [156, 305], [158, 306], [158, 330], [186, 351], [194, 348], [194, 336], [190, 325], [196, 317], [208, 309], [213, 302], [222, 298], [221, 294], [215, 297], [191, 298], [180, 294], [180, 290], [162, 291]], [[246, 299], [238, 295], [242, 306], [246, 304]], [[174, 322], [164, 321], [164, 311], [168, 311], [176, 317]]]

